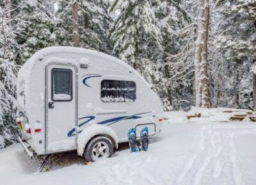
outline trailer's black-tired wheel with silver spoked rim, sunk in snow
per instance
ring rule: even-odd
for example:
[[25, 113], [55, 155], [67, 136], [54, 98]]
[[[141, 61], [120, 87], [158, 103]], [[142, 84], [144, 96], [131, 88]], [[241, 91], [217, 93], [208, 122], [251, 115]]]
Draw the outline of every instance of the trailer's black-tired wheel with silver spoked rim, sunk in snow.
[[84, 149], [84, 158], [87, 161], [97, 161], [99, 158], [110, 158], [113, 154], [113, 144], [108, 137], [95, 137]]

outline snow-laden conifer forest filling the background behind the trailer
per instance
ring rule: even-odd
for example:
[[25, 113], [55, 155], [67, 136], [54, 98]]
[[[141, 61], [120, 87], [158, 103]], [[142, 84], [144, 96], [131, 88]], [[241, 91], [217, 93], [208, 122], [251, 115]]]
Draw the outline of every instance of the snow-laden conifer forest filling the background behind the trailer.
[[17, 73], [51, 46], [121, 59], [164, 111], [256, 109], [256, 0], [0, 0], [0, 149], [17, 140]]

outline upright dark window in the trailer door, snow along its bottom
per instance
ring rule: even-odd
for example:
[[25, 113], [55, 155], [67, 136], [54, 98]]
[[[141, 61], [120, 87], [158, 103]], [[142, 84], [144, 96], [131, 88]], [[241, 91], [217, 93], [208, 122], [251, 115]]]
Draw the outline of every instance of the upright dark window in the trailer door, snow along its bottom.
[[72, 71], [52, 69], [52, 101], [72, 100]]

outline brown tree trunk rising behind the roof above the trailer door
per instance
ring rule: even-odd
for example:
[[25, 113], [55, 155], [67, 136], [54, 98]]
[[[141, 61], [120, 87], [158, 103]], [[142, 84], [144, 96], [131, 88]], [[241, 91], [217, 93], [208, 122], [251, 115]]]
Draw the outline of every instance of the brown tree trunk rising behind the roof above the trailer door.
[[78, 17], [78, 0], [73, 0], [72, 15], [73, 15], [73, 41], [74, 47], [80, 47], [79, 41], [79, 17]]

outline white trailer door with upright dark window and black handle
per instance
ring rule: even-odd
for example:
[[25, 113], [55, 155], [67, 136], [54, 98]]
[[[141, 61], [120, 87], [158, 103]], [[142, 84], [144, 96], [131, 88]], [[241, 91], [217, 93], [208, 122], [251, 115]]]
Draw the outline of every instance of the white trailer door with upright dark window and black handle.
[[77, 126], [77, 70], [63, 64], [46, 69], [45, 152], [76, 149], [76, 137], [68, 131]]

